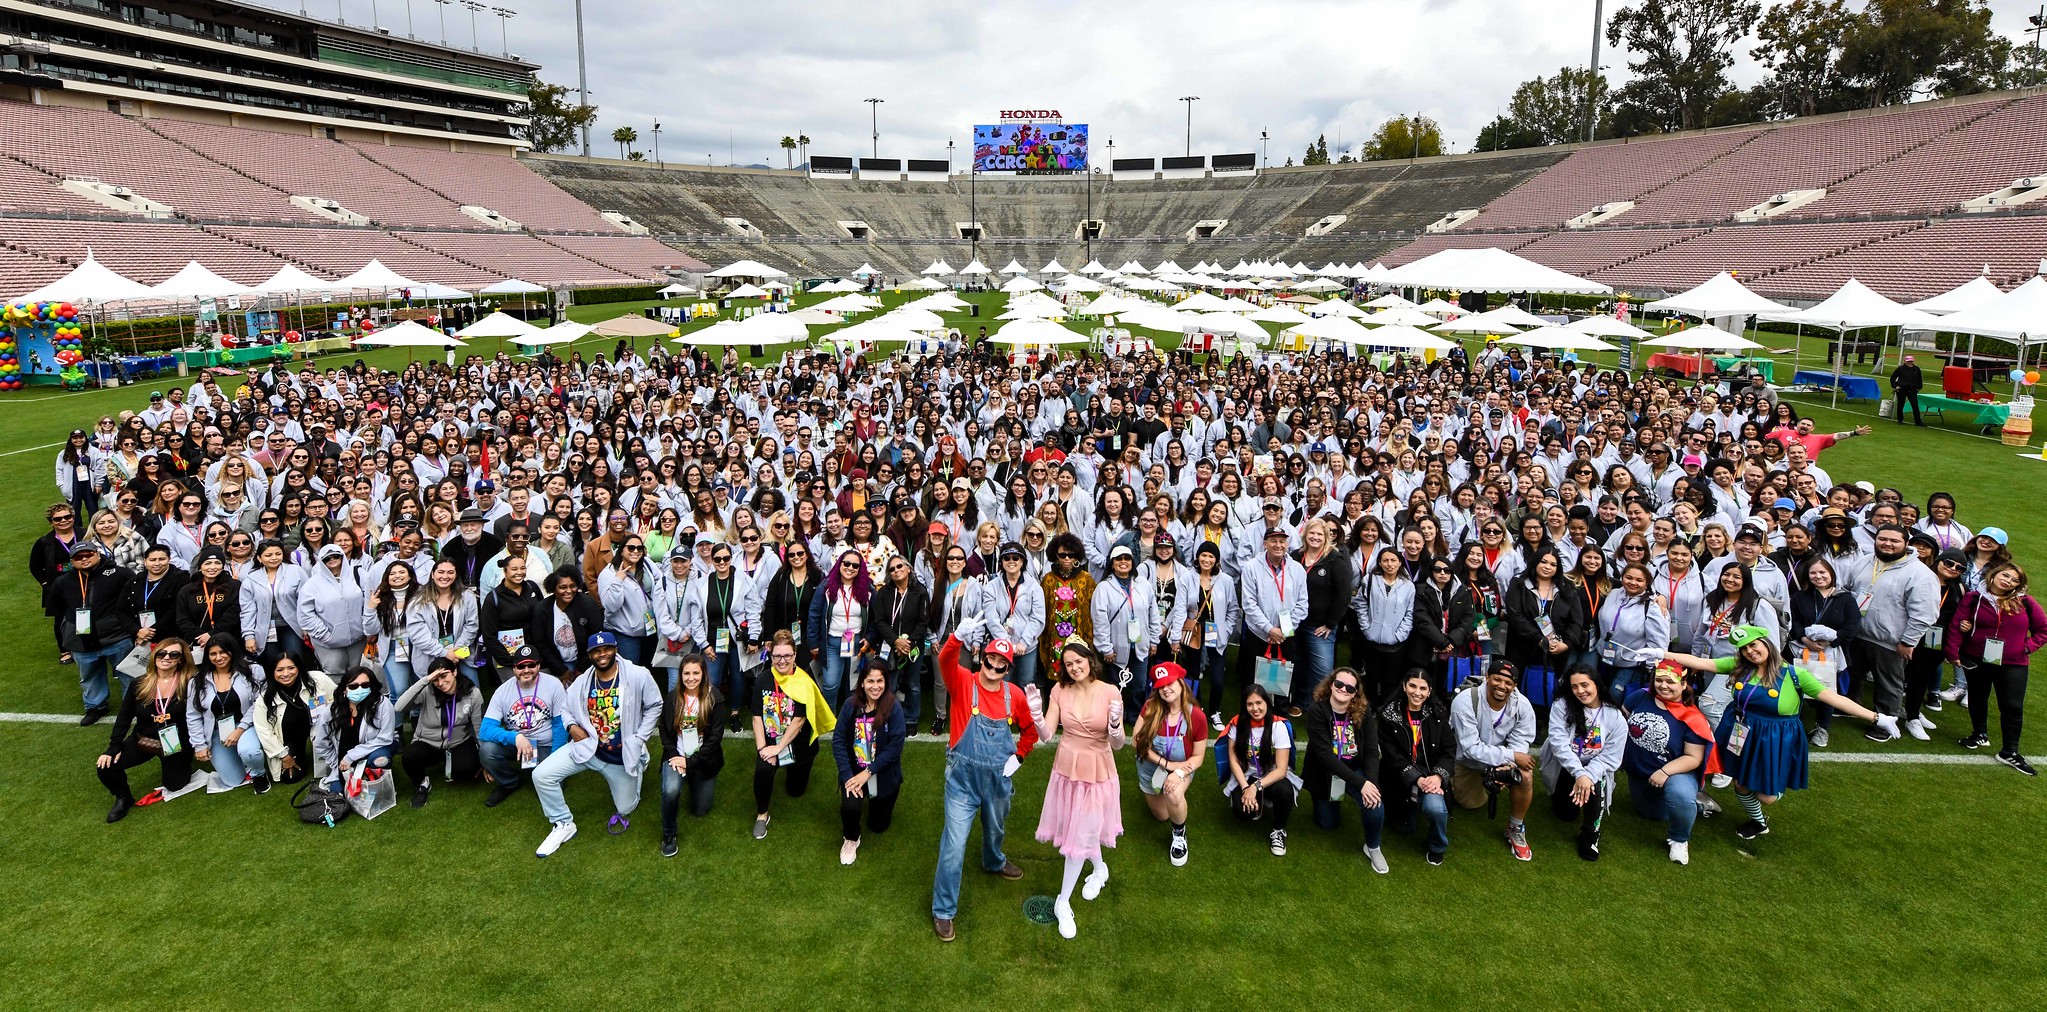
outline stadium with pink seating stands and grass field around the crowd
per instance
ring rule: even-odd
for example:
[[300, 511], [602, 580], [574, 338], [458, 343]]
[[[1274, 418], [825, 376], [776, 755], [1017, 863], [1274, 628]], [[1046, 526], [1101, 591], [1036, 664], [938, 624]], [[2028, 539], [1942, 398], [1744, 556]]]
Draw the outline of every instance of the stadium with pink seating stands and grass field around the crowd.
[[[512, 16], [436, 2], [442, 18], [485, 12], [485, 37], [491, 12]], [[1038, 109], [991, 115], [1003, 123], [976, 127], [962, 164], [950, 150], [868, 158], [862, 143], [807, 154], [798, 168], [757, 168], [538, 152], [528, 88], [555, 68], [508, 45], [487, 53], [424, 41], [428, 10], [418, 14], [413, 35], [375, 16], [346, 25], [239, 0], [0, 0], [0, 307], [23, 307], [6, 318], [16, 330], [0, 348], [10, 367], [0, 371], [0, 531], [16, 545], [0, 600], [33, 633], [0, 653], [0, 834], [18, 867], [0, 887], [14, 912], [0, 926], [0, 1004], [377, 1008], [510, 994], [741, 1008], [839, 996], [968, 1008], [995, 994], [1028, 1008], [2043, 1002], [2027, 926], [2047, 916], [2029, 846], [2047, 801], [2037, 781], [1955, 754], [1967, 723], [1955, 705], [1932, 744], [1865, 746], [1836, 729], [1814, 762], [1818, 789], [1781, 805], [1791, 832], [1738, 848], [1717, 826], [1726, 840], [1709, 846], [1715, 826], [1701, 824], [1689, 869], [1662, 860], [1662, 830], [1621, 807], [1601, 862], [1574, 860], [1570, 828], [1554, 828], [1545, 809], [1529, 821], [1533, 867], [1492, 852], [1496, 828], [1466, 813], [1447, 869], [1425, 869], [1414, 848], [1378, 877], [1353, 844], [1312, 830], [1298, 830], [1296, 850], [1275, 862], [1251, 830], [1232, 836], [1220, 797], [1193, 805], [1204, 850], [1177, 869], [1148, 852], [1136, 826], [1155, 826], [1126, 803], [1142, 842], [1126, 838], [1118, 850], [1116, 885], [1087, 908], [1083, 942], [1026, 916], [1028, 899], [1058, 887], [1058, 854], [1030, 838], [1048, 766], [1036, 762], [1017, 774], [1026, 787], [1009, 824], [1011, 860], [1028, 879], [989, 885], [997, 879], [968, 869], [966, 944], [929, 944], [925, 881], [948, 776], [931, 735], [903, 758], [907, 783], [931, 797], [907, 803], [858, 867], [831, 862], [823, 844], [800, 848], [807, 836], [837, 842], [831, 791], [827, 801], [780, 801], [770, 842], [747, 840], [741, 817], [721, 809], [686, 824], [678, 860], [653, 858], [641, 826], [622, 838], [585, 830], [563, 852], [569, 860], [538, 869], [532, 797], [485, 811], [456, 793], [426, 811], [325, 830], [289, 817], [276, 793], [235, 791], [100, 826], [104, 797], [88, 770], [104, 729], [70, 727], [74, 670], [47, 649], [43, 588], [20, 557], [49, 531], [49, 459], [66, 432], [143, 410], [151, 387], [213, 375], [233, 389], [272, 359], [399, 371], [418, 348], [377, 348], [377, 332], [405, 320], [452, 330], [489, 309], [536, 324], [528, 330], [680, 322], [653, 340], [620, 332], [639, 352], [669, 334], [669, 346], [700, 334], [712, 350], [749, 348], [710, 336], [710, 320], [802, 309], [823, 299], [811, 293], [821, 283], [901, 307], [925, 295], [907, 285], [935, 277], [925, 285], [952, 287], [962, 303], [925, 332], [929, 350], [1001, 326], [995, 287], [1007, 277], [952, 272], [964, 264], [1015, 262], [1044, 283], [1064, 275], [1048, 264], [1169, 262], [1195, 275], [1191, 264], [1214, 264], [1238, 279], [1259, 264], [1265, 283], [1216, 291], [1269, 305], [1329, 277], [1324, 291], [1345, 299], [1398, 291], [1408, 305], [1513, 303], [1556, 322], [1640, 313], [1724, 275], [1787, 313], [1850, 283], [1904, 305], [1967, 285], [2047, 285], [2047, 86], [1312, 166], [1271, 166], [1251, 152], [1118, 158], [1114, 141], [1101, 158], [1081, 111]], [[995, 133], [983, 139], [983, 129]], [[1017, 131], [1034, 133], [1017, 141]], [[1396, 289], [1363, 275], [1445, 250], [1505, 250], [1591, 287]], [[774, 275], [718, 272], [735, 262]], [[1333, 268], [1345, 264], [1357, 272]], [[794, 291], [731, 297], [770, 277]], [[479, 299], [491, 287], [512, 295]], [[702, 301], [667, 299], [663, 287]], [[27, 315], [41, 303], [76, 303], [76, 315]], [[686, 305], [702, 315], [678, 318]], [[375, 326], [350, 320], [352, 307], [366, 307]], [[1953, 492], [1977, 524], [2010, 529], [2010, 555], [2033, 567], [2047, 565], [2027, 529], [2047, 502], [2047, 457], [2029, 420], [2008, 420], [2031, 410], [2037, 377], [2024, 373], [2039, 369], [2047, 299], [2020, 313], [2031, 315], [1975, 334], [1869, 328], [1844, 338], [1769, 320], [1736, 330], [1767, 354], [1789, 354], [1773, 383], [1791, 387], [1797, 371], [1783, 399], [1822, 430], [1877, 426], [1879, 438], [1828, 451], [1832, 473], [1893, 486], [1906, 502]], [[1695, 315], [1726, 324], [1736, 313]], [[59, 332], [76, 336], [78, 322], [86, 336], [63, 344]], [[1656, 334], [1687, 326], [1681, 313], [1634, 322]], [[1097, 324], [1081, 311], [1066, 320], [1081, 346], [1130, 350], [1095, 334]], [[1261, 342], [1275, 328], [1265, 330]], [[1163, 332], [1144, 348], [1185, 338]], [[1453, 338], [1472, 354], [1488, 348], [1484, 334]], [[614, 332], [575, 340], [547, 350], [594, 356], [620, 344]], [[1855, 350], [1873, 342], [1873, 361], [1848, 365], [1855, 350], [1834, 346], [1842, 340]], [[512, 352], [504, 340], [446, 342], [450, 363]], [[880, 356], [899, 344], [862, 348]], [[1582, 361], [1642, 369], [1646, 350], [1656, 348]], [[1949, 402], [1926, 428], [1879, 416], [1893, 395], [1885, 377], [1906, 352], [1926, 363], [1928, 395]], [[751, 346], [739, 361], [782, 354]], [[1955, 369], [1943, 375], [1943, 363]], [[1752, 361], [1728, 365], [1754, 371]], [[2016, 404], [2027, 410], [1996, 422], [1975, 414]], [[2047, 709], [2037, 699], [2022, 709], [2039, 727]], [[743, 746], [731, 752], [743, 756]], [[602, 807], [602, 785], [569, 791], [577, 807]], [[743, 807], [745, 787], [725, 791], [721, 805]], [[641, 807], [645, 821], [651, 809]], [[1787, 963], [1797, 969], [1785, 973]]]

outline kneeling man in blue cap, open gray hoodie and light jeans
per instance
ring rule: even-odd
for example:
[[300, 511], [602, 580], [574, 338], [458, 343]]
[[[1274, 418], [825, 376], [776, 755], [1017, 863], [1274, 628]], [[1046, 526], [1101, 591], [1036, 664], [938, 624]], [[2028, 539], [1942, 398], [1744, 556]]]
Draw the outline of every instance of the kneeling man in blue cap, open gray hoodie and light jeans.
[[532, 793], [540, 795], [549, 832], [532, 856], [545, 858], [575, 838], [575, 813], [561, 797], [561, 783], [596, 770], [612, 789], [612, 817], [606, 832], [618, 836], [633, 826], [639, 807], [641, 772], [647, 770], [647, 740], [661, 721], [661, 686], [647, 668], [618, 656], [612, 633], [590, 633], [583, 643], [590, 668], [569, 682], [569, 707], [561, 715], [567, 744], [555, 748], [532, 770]]

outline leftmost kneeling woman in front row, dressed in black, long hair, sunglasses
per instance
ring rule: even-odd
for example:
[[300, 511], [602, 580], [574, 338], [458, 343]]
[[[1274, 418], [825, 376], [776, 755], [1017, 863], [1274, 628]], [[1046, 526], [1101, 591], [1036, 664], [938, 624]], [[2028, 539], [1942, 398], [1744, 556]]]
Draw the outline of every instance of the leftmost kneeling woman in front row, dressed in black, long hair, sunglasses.
[[96, 760], [100, 785], [115, 795], [106, 821], [121, 821], [137, 805], [127, 770], [149, 760], [164, 764], [164, 789], [143, 801], [178, 797], [192, 787], [192, 742], [188, 711], [192, 682], [192, 645], [178, 637], [162, 637], [149, 651], [149, 666], [121, 697], [106, 750]]

